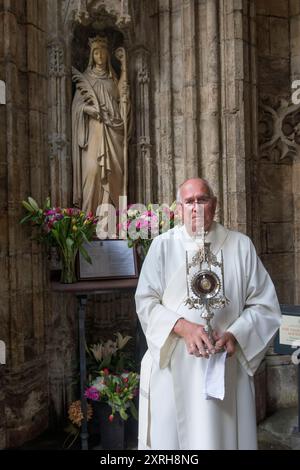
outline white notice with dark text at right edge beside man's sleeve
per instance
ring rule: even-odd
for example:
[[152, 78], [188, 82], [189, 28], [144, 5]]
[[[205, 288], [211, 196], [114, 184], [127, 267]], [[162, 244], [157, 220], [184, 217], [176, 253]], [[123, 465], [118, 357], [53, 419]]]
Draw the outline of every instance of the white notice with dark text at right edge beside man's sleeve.
[[281, 305], [282, 323], [274, 340], [277, 354], [293, 354], [300, 346], [300, 305]]

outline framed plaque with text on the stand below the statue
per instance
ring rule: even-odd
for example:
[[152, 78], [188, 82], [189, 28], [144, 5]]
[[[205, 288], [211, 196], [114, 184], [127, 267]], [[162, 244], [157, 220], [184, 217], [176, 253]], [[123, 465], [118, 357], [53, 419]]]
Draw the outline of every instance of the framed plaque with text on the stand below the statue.
[[78, 256], [77, 274], [80, 281], [101, 279], [137, 278], [136, 252], [126, 240], [99, 240], [83, 245], [92, 259], [88, 263], [82, 254]]

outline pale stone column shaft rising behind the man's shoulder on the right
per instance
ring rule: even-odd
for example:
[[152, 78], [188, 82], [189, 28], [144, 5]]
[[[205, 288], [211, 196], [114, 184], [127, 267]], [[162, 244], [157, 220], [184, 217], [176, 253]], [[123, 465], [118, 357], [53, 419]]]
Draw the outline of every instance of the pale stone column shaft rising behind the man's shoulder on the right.
[[[221, 103], [224, 223], [246, 232], [246, 120], [245, 84], [248, 57], [245, 54], [248, 18], [244, 22], [242, 0], [220, 2]], [[248, 12], [245, 12], [247, 15]]]

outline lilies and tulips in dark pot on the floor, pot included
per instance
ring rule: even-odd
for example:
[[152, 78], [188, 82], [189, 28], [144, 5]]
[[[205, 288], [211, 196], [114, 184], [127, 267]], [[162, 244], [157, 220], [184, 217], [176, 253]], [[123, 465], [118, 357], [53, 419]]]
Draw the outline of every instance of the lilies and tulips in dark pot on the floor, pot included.
[[87, 348], [89, 376], [85, 396], [93, 405], [94, 425], [104, 449], [123, 449], [125, 422], [130, 417], [137, 420], [135, 397], [139, 375], [133, 370], [130, 354], [124, 350], [130, 339], [117, 333], [116, 340]]

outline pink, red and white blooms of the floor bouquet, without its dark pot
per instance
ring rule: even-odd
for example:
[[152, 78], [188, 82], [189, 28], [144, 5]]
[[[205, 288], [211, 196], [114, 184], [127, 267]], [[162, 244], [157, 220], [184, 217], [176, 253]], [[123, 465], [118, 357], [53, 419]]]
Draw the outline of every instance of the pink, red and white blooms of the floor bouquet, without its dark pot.
[[87, 348], [89, 386], [85, 396], [93, 402], [107, 403], [111, 407], [110, 421], [116, 413], [127, 420], [128, 411], [137, 418], [133, 400], [139, 385], [139, 375], [133, 371], [135, 364], [130, 354], [124, 351], [131, 337], [123, 337], [120, 333], [115, 336], [115, 341], [109, 339]]

